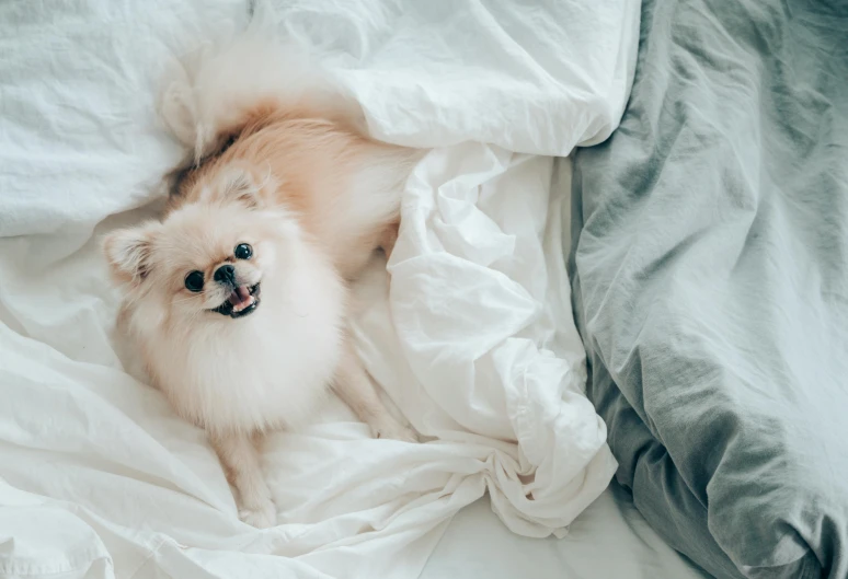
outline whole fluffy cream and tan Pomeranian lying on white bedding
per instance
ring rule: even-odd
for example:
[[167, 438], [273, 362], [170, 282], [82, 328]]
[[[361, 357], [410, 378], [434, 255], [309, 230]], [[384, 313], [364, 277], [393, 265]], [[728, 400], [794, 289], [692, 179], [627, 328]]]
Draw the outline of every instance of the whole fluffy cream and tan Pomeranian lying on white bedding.
[[416, 440], [354, 352], [346, 308], [349, 280], [392, 250], [420, 151], [369, 139], [328, 77], [250, 36], [184, 68], [161, 113], [193, 162], [160, 221], [104, 239], [121, 325], [208, 433], [241, 519], [270, 526], [257, 443], [309, 422], [330, 389], [375, 437]]

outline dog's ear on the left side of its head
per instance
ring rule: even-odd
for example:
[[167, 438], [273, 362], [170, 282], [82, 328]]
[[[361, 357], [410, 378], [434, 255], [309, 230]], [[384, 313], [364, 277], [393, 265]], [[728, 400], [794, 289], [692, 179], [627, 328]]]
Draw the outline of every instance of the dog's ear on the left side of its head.
[[123, 283], [139, 285], [150, 274], [151, 250], [160, 223], [151, 221], [114, 231], [103, 239], [103, 253], [113, 277]]

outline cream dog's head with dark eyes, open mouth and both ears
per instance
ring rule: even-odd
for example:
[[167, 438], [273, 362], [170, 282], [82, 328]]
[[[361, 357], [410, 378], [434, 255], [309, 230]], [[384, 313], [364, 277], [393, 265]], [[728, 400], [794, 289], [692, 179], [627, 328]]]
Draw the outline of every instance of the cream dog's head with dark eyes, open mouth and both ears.
[[172, 322], [239, 320], [259, 311], [262, 283], [285, 267], [295, 227], [270, 213], [249, 176], [229, 175], [162, 222], [112, 233], [104, 252], [130, 302]]

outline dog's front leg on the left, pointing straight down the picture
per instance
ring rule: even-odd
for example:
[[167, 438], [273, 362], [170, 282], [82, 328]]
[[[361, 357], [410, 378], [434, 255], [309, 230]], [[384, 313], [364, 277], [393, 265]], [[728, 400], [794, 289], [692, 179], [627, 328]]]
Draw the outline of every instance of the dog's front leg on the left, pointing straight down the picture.
[[274, 526], [277, 509], [265, 484], [255, 441], [248, 435], [211, 437], [227, 476], [239, 491], [239, 518], [259, 529]]

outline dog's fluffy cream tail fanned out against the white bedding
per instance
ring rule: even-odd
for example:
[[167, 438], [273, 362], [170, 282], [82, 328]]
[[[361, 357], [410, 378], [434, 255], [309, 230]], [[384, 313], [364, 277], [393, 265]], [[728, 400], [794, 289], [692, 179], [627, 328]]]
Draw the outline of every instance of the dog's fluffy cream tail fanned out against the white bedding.
[[355, 100], [302, 50], [277, 40], [267, 19], [254, 15], [245, 32], [202, 46], [169, 74], [160, 115], [195, 163], [275, 112], [363, 130]]

